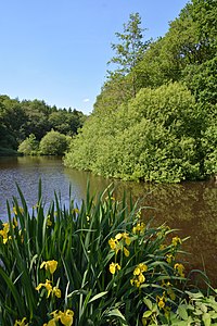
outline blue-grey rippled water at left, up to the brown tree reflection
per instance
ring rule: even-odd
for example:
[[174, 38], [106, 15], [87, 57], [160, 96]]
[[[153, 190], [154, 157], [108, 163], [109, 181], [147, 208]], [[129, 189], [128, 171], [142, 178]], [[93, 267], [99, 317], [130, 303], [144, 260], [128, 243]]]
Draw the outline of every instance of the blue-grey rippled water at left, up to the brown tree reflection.
[[[54, 198], [54, 190], [61, 193], [63, 202], [68, 200], [71, 180], [64, 174], [61, 159], [56, 158], [4, 158], [0, 159], [0, 210], [5, 215], [5, 201], [17, 197], [16, 183], [21, 187], [27, 204], [37, 202], [38, 183], [42, 180], [43, 200], [49, 203]], [[77, 201], [82, 198], [82, 188], [72, 184], [72, 196]]]

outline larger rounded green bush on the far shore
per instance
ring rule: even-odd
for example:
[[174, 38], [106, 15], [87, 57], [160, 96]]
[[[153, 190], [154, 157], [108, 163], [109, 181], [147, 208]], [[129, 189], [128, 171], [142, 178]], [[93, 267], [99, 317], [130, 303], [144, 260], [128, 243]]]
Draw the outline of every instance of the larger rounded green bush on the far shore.
[[68, 147], [65, 135], [51, 130], [40, 141], [39, 151], [43, 155], [63, 155]]

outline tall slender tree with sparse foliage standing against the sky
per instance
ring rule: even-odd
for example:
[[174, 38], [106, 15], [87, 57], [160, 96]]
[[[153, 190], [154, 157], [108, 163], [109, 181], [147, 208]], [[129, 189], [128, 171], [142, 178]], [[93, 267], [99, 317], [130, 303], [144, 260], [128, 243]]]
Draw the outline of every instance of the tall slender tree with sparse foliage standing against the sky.
[[113, 57], [108, 64], [117, 64], [115, 72], [108, 71], [108, 78], [111, 80], [122, 78], [130, 74], [128, 87], [131, 96], [137, 93], [137, 71], [136, 66], [142, 60], [149, 41], [143, 42], [143, 30], [141, 27], [141, 17], [139, 13], [132, 13], [129, 16], [129, 22], [124, 24], [124, 33], [116, 33], [119, 43], [112, 43], [112, 49], [115, 50], [116, 55]]

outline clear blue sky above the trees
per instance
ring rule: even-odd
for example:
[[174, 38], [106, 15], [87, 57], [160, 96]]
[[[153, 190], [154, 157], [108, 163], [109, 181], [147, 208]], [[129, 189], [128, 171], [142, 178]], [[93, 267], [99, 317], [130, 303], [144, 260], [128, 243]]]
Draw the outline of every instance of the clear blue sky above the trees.
[[5, 0], [0, 93], [85, 113], [105, 80], [115, 33], [139, 12], [144, 39], [163, 36], [187, 0]]

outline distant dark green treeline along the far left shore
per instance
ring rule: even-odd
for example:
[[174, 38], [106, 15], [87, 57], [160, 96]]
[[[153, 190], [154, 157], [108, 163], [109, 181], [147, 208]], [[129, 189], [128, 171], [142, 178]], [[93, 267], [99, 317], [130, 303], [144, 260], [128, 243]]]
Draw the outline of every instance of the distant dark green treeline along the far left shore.
[[[39, 145], [48, 133], [51, 133], [50, 138], [56, 135], [72, 137], [82, 126], [85, 118], [82, 112], [75, 109], [58, 109], [55, 105], [48, 105], [44, 101], [20, 101], [2, 95], [0, 96], [0, 154], [13, 151], [15, 153], [23, 142], [21, 149], [24, 153], [30, 154], [34, 151], [36, 153], [36, 143]], [[30, 145], [34, 146], [33, 152]]]

